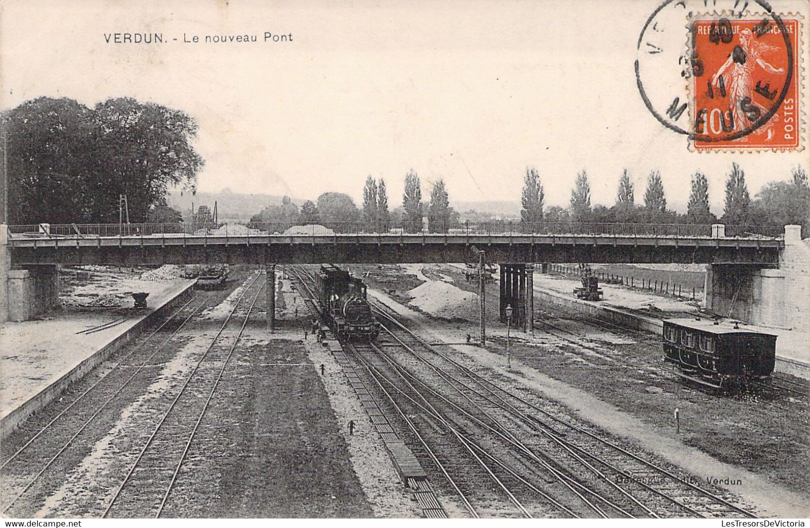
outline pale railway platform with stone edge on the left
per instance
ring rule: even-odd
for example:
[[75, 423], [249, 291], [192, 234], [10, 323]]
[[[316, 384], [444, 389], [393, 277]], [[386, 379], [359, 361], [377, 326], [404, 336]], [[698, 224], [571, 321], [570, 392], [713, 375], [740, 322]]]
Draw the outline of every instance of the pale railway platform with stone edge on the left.
[[188, 279], [144, 281], [147, 309], [66, 309], [42, 320], [3, 323], [0, 439], [189, 296], [193, 285]]

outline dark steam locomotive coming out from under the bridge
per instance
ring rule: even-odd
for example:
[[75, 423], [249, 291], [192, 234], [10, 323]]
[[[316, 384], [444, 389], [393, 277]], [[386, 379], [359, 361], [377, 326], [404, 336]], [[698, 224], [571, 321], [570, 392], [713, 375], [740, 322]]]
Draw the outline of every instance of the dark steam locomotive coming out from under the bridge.
[[362, 280], [338, 266], [324, 264], [315, 275], [315, 290], [323, 317], [338, 339], [376, 339], [380, 334]]

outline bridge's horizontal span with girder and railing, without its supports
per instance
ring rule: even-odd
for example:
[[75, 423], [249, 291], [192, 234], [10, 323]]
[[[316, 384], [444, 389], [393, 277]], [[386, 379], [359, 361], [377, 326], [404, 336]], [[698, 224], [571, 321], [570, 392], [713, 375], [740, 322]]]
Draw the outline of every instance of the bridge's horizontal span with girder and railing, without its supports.
[[778, 265], [781, 233], [679, 224], [96, 224], [9, 226], [14, 265], [697, 262]]

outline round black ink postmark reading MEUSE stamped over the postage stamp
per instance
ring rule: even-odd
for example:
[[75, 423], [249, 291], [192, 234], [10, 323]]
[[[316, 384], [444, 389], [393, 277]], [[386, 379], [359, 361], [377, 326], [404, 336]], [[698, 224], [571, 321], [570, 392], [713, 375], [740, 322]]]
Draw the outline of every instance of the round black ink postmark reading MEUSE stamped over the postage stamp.
[[799, 28], [787, 22], [765, 0], [665, 0], [638, 37], [644, 104], [696, 146], [731, 146], [749, 134], [770, 140], [780, 106], [796, 92]]

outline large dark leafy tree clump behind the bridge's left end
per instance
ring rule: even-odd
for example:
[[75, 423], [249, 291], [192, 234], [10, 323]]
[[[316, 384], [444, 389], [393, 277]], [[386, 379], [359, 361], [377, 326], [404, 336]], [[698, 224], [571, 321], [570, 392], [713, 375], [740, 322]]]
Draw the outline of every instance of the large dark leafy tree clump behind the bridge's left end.
[[131, 221], [157, 218], [168, 189], [194, 192], [203, 167], [194, 118], [161, 104], [40, 97], [2, 113], [2, 126], [12, 224], [117, 223], [120, 194]]

